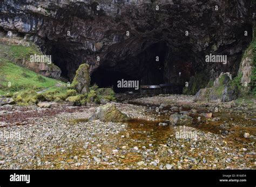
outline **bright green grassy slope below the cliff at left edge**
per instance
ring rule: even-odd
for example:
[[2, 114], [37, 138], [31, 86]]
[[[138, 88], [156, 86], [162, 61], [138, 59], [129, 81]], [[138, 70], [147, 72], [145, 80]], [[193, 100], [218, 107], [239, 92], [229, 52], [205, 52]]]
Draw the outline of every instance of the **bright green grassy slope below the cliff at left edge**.
[[[13, 62], [28, 60], [31, 54], [41, 54], [35, 45], [30, 47], [0, 43], [0, 95], [26, 89], [55, 89], [60, 82], [17, 66]], [[8, 83], [11, 87], [8, 87]]]

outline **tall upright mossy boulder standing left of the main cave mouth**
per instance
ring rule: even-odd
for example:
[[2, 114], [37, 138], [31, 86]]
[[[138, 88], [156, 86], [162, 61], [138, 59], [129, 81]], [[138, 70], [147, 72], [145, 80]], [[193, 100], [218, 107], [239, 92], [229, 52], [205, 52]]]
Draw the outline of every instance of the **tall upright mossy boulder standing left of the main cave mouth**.
[[89, 86], [91, 82], [91, 77], [89, 73], [89, 65], [88, 64], [81, 64], [76, 71], [76, 76], [73, 78], [73, 82], [71, 87], [77, 90], [78, 93], [88, 93]]

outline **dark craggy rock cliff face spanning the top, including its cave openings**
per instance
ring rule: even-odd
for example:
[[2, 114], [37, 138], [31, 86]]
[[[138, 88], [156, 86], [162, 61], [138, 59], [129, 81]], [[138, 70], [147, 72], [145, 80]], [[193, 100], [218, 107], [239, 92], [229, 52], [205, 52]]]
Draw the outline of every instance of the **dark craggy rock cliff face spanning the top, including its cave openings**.
[[[87, 63], [99, 86], [124, 78], [198, 91], [221, 72], [237, 75], [255, 10], [246, 0], [3, 0], [0, 31], [35, 41], [70, 80]], [[209, 54], [227, 63], [206, 63]]]

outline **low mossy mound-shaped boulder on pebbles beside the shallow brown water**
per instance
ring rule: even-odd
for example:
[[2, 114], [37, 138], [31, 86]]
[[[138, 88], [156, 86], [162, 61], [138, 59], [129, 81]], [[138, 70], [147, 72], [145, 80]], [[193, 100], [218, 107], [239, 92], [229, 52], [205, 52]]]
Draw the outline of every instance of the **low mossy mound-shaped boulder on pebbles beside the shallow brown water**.
[[108, 103], [101, 107], [98, 107], [95, 114], [89, 120], [97, 120], [100, 121], [112, 121], [112, 122], [122, 122], [127, 121], [129, 117], [126, 114], [120, 112], [116, 105], [112, 103]]

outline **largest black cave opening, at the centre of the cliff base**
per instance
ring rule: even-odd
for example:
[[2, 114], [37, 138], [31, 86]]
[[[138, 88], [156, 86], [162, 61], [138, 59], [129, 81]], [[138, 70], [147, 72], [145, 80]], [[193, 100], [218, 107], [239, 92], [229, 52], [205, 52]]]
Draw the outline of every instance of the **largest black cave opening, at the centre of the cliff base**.
[[91, 75], [91, 83], [100, 88], [112, 87], [115, 92], [139, 91], [118, 88], [118, 81], [136, 81], [139, 85], [159, 85], [164, 81], [164, 63], [168, 48], [164, 42], [152, 44], [136, 56], [125, 60], [105, 61]]

